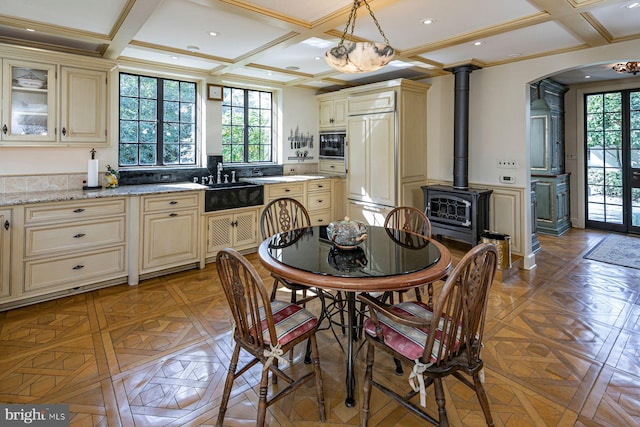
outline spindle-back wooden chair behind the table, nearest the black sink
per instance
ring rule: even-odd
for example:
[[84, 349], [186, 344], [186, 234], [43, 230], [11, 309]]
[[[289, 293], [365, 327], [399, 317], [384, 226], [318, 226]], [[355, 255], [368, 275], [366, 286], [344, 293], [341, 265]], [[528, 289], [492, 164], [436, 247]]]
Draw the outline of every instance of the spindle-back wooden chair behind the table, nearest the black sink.
[[[260, 233], [263, 240], [274, 234], [309, 227], [310, 225], [311, 220], [307, 209], [302, 203], [289, 197], [272, 200], [264, 207], [260, 216]], [[276, 297], [279, 285], [291, 291], [291, 302], [300, 305], [304, 305], [318, 296], [318, 292], [312, 290], [309, 286], [291, 283], [274, 276], [273, 288], [271, 289], [272, 300]], [[298, 292], [302, 295], [300, 301], [297, 299]], [[311, 295], [307, 296], [308, 292]]]

